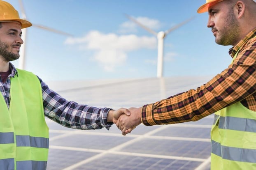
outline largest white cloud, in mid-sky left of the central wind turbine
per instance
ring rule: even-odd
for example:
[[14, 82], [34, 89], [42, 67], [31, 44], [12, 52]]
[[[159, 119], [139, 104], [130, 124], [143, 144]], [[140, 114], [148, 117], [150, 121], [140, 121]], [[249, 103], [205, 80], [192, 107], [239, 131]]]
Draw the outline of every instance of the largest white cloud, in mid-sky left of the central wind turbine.
[[81, 51], [94, 51], [93, 58], [106, 71], [115, 71], [116, 66], [126, 62], [127, 53], [141, 48], [156, 48], [156, 37], [138, 37], [134, 34], [103, 34], [99, 31], [88, 32], [84, 37], [69, 37], [65, 44], [78, 45]]

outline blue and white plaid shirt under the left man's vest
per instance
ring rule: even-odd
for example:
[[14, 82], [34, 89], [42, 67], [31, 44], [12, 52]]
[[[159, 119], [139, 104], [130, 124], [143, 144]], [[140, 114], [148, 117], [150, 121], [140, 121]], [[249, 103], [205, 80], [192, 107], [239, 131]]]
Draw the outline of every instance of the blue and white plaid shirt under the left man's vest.
[[[0, 91], [5, 102], [10, 106], [10, 77], [18, 76], [13, 64], [10, 63], [11, 74], [5, 83], [0, 76]], [[88, 105], [67, 101], [49, 87], [38, 77], [42, 86], [44, 115], [55, 122], [73, 129], [101, 129], [113, 123], [107, 123], [107, 113], [111, 108], [96, 108]]]

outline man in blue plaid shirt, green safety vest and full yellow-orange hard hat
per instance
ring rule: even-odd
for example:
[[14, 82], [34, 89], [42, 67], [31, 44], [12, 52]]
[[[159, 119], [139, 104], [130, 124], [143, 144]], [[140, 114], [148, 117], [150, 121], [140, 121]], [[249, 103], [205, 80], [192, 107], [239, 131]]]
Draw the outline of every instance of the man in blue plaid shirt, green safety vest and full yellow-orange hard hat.
[[101, 129], [128, 109], [96, 108], [67, 101], [33, 73], [16, 69], [21, 28], [29, 21], [0, 0], [0, 169], [46, 170], [49, 129], [44, 116], [74, 129]]

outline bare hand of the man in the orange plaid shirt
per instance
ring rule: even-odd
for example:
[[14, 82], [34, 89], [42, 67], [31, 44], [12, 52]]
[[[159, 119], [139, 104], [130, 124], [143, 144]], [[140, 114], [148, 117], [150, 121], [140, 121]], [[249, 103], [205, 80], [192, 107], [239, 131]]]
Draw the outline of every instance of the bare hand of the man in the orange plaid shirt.
[[122, 135], [130, 133], [136, 126], [141, 124], [141, 109], [129, 108], [130, 116], [120, 115], [116, 126], [122, 131]]

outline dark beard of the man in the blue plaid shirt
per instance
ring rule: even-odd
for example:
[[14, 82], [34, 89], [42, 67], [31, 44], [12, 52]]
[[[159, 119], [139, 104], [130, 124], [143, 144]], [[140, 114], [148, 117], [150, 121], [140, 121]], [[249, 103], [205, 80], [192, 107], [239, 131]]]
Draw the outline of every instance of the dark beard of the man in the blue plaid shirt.
[[19, 59], [20, 55], [7, 51], [8, 45], [0, 41], [0, 57], [6, 62]]

